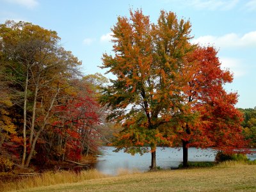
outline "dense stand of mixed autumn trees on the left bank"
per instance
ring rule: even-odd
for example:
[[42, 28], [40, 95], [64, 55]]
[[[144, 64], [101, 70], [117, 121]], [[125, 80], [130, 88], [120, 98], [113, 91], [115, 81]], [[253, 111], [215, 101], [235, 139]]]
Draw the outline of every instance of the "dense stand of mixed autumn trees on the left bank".
[[28, 22], [1, 24], [0, 62], [1, 161], [24, 167], [97, 152], [105, 77], [81, 76], [57, 33]]

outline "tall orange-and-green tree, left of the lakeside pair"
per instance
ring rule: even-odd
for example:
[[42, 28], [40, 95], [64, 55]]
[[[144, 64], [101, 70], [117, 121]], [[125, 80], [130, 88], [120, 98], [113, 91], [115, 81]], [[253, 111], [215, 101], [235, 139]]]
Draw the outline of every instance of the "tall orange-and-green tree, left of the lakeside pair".
[[115, 56], [104, 54], [102, 68], [109, 68], [116, 79], [104, 90], [101, 102], [113, 110], [108, 119], [124, 127], [115, 142], [117, 149], [142, 154], [149, 146], [154, 170], [156, 145], [170, 141], [159, 128], [170, 122], [187, 78], [177, 72], [184, 70], [191, 51], [190, 24], [172, 12], [162, 11], [154, 25], [141, 10], [130, 15], [118, 17], [112, 28]]

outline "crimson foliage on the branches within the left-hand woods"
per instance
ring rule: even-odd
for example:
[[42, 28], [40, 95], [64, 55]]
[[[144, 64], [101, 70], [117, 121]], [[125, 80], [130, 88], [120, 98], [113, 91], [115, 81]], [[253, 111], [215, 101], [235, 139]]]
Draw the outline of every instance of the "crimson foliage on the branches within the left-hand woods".
[[94, 127], [99, 124], [99, 105], [93, 92], [86, 84], [79, 86], [81, 90], [66, 99], [65, 104], [54, 108], [58, 118], [51, 124], [55, 134], [65, 140], [65, 147], [62, 147], [65, 148], [65, 157], [74, 161], [81, 159], [81, 151], [87, 143], [94, 148], [97, 136]]

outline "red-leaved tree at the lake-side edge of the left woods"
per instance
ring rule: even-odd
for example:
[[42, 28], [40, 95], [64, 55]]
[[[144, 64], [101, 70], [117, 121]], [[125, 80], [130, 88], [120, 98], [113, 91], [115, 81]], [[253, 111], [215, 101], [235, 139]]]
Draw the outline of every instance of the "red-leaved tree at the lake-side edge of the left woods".
[[97, 152], [100, 110], [90, 86], [84, 79], [75, 79], [65, 97], [60, 97], [53, 108], [49, 150], [52, 148], [62, 161], [77, 161], [82, 155]]

